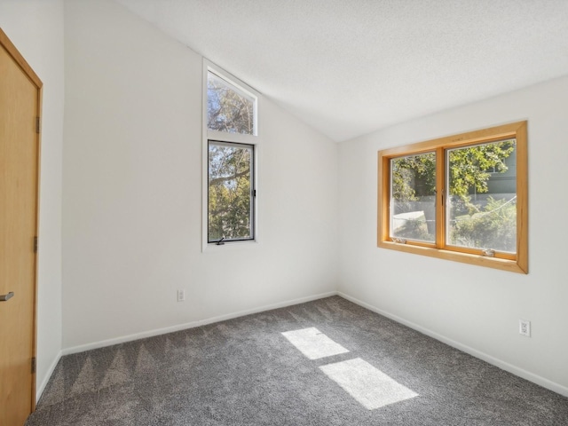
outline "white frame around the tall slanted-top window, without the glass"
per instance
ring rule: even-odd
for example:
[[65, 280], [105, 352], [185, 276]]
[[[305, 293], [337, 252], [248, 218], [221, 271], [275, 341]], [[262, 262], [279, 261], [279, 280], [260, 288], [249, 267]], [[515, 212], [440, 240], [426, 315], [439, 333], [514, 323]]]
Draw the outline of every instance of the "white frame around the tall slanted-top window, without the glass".
[[[246, 94], [248, 97], [252, 96], [256, 98], [256, 102], [254, 104], [254, 134], [252, 135], [245, 135], [241, 133], [229, 133], [225, 131], [217, 131], [217, 130], [209, 130], [207, 126], [207, 83], [208, 83], [208, 75], [209, 72], [217, 75], [217, 77], [222, 78], [225, 80], [226, 83], [232, 85], [237, 91]], [[218, 252], [223, 250], [233, 250], [239, 248], [252, 248], [256, 247], [259, 243], [259, 214], [258, 214], [258, 193], [259, 187], [259, 179], [260, 176], [258, 167], [260, 153], [261, 150], [261, 138], [260, 138], [260, 129], [258, 125], [258, 110], [260, 109], [262, 97], [260, 93], [248, 84], [241, 82], [238, 78], [234, 75], [227, 73], [221, 67], [217, 67], [217, 65], [210, 62], [208, 59], [203, 59], [203, 78], [202, 78], [202, 140], [201, 140], [201, 164], [202, 164], [202, 173], [201, 173], [201, 251], [203, 253], [208, 252]], [[236, 144], [246, 144], [254, 146], [254, 159], [253, 159], [253, 176], [251, 177], [251, 185], [256, 191], [256, 196], [253, 199], [253, 212], [252, 217], [254, 217], [253, 221], [253, 240], [246, 240], [246, 241], [226, 241], [223, 245], [217, 245], [215, 242], [208, 242], [208, 232], [209, 232], [209, 140], [219, 141], [219, 142], [233, 142]]]

